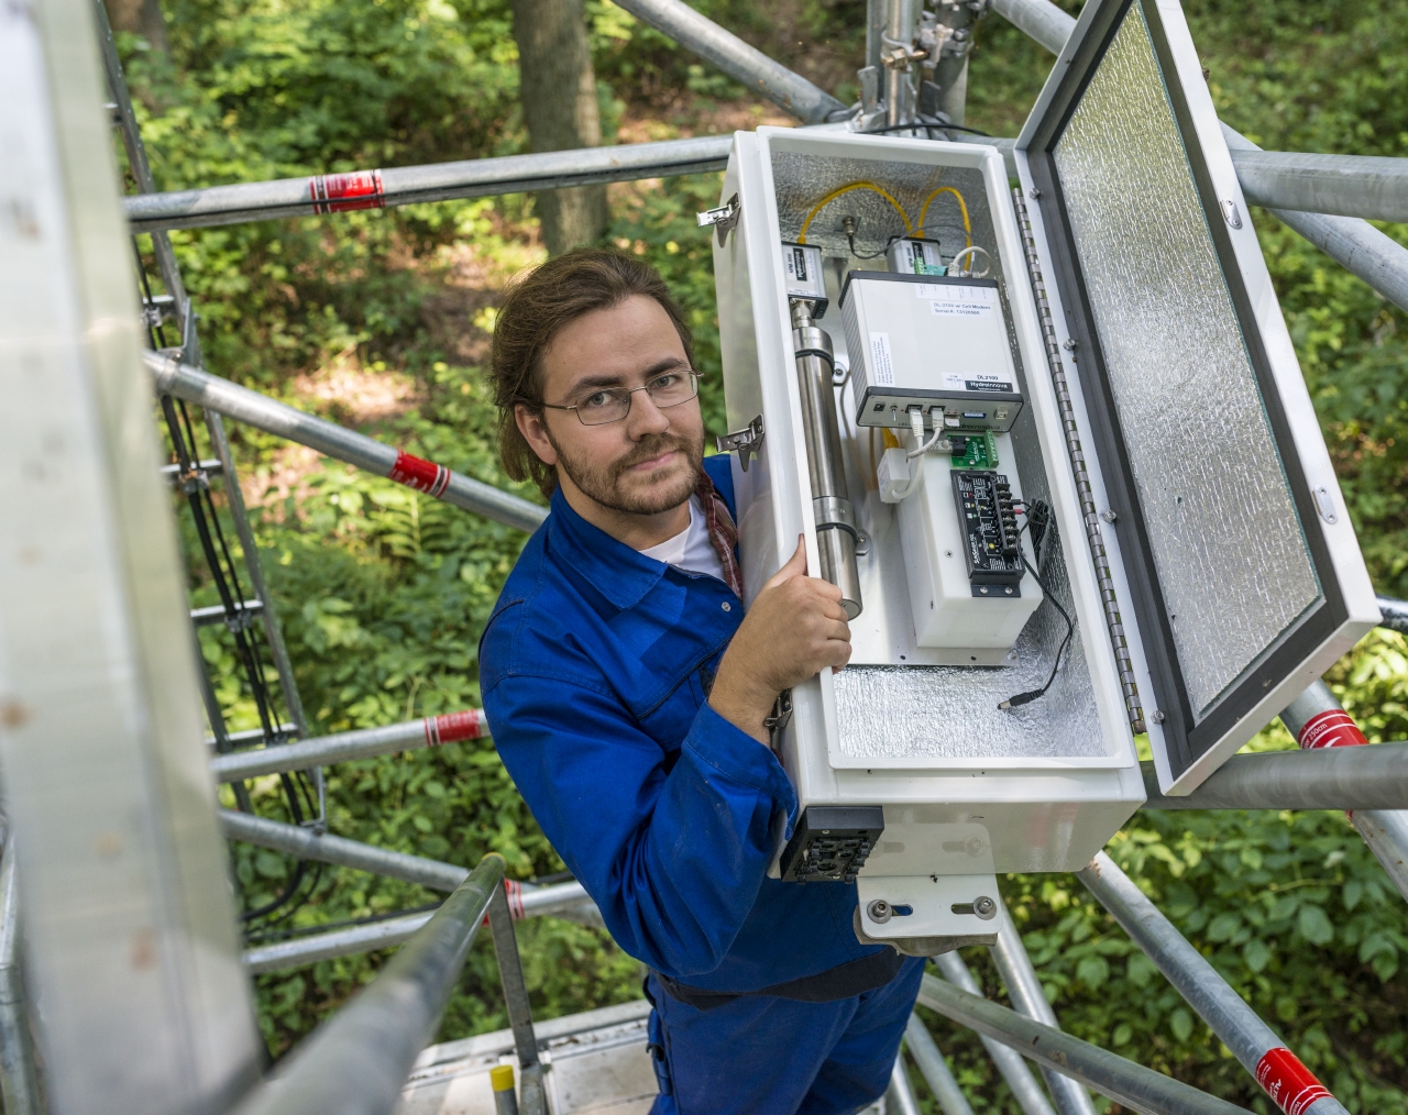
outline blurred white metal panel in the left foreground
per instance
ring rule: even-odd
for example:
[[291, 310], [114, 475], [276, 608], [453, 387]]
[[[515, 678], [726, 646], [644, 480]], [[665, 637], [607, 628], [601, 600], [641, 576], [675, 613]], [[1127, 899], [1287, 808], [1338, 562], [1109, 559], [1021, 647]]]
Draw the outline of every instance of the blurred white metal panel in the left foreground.
[[84, 0], [0, 11], [0, 763], [49, 1109], [258, 1076]]

